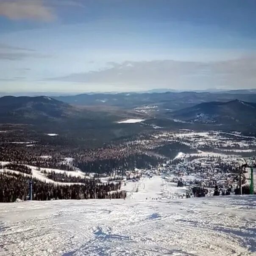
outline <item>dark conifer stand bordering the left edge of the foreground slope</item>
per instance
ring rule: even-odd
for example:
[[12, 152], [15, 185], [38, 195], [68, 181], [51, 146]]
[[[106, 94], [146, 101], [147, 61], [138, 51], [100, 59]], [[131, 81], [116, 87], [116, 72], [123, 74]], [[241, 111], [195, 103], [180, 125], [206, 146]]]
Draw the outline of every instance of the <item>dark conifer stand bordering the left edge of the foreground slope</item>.
[[28, 200], [29, 181], [33, 184], [33, 200], [59, 199], [111, 199], [125, 198], [126, 192], [120, 191], [121, 182], [97, 184], [94, 179], [84, 185], [58, 185], [39, 181], [28, 175], [0, 173], [0, 202], [14, 202], [17, 198]]

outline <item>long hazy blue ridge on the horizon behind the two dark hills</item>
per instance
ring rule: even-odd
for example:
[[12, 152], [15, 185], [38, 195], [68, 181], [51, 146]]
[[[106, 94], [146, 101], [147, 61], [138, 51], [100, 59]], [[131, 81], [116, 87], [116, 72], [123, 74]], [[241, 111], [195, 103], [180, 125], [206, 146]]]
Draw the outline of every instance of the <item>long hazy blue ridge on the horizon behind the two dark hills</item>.
[[53, 97], [71, 105], [80, 106], [118, 106], [133, 109], [142, 105], [156, 105], [160, 109], [178, 110], [203, 102], [242, 100], [256, 103], [256, 91], [234, 92], [164, 92], [164, 93], [117, 93], [117, 94], [80, 94]]

